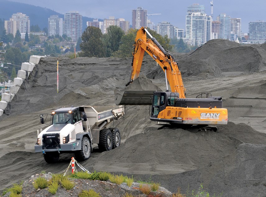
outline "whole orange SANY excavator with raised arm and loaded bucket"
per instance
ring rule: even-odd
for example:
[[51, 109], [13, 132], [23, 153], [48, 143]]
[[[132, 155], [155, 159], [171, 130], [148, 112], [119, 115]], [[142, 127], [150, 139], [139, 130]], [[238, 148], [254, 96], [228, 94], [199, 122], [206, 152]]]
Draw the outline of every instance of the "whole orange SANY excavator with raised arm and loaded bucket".
[[[151, 39], [147, 38], [147, 35]], [[222, 97], [201, 93], [196, 98], [186, 98], [178, 63], [174, 57], [152, 37], [145, 27], [137, 32], [133, 47], [132, 69], [128, 86], [139, 77], [145, 51], [164, 70], [166, 91], [127, 91], [115, 89], [116, 105], [152, 105], [152, 121], [170, 124], [201, 125], [200, 128], [216, 130], [212, 126], [227, 124], [227, 109], [222, 108]], [[171, 92], [168, 90], [169, 82]]]

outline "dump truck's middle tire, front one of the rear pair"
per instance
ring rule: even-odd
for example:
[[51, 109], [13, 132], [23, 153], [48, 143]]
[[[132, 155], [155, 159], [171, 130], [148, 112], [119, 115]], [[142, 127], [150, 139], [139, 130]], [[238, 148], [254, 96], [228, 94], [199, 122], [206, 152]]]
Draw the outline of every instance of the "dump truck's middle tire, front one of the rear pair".
[[113, 136], [110, 129], [100, 130], [100, 139], [98, 147], [101, 151], [110, 151], [113, 147]]

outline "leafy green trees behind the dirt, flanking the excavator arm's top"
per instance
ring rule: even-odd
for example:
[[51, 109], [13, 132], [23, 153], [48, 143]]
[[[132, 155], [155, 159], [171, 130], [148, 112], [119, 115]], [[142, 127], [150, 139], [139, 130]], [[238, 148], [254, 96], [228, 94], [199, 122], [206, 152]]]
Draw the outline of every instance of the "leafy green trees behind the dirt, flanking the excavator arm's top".
[[[118, 26], [109, 26], [106, 34], [97, 27], [87, 27], [80, 43], [80, 57], [132, 57], [133, 45], [138, 30], [130, 29], [124, 32]], [[183, 39], [169, 39], [148, 28], [153, 37], [169, 52], [188, 53], [198, 46], [187, 45]]]

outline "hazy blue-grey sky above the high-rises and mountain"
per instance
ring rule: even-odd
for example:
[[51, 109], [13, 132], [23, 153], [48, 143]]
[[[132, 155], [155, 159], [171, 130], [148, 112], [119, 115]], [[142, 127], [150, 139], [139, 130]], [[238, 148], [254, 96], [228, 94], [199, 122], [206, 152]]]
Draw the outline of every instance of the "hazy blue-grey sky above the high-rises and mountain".
[[[180, 29], [185, 29], [186, 10], [189, 5], [198, 3], [205, 5], [207, 15], [211, 15], [210, 0], [12, 0], [14, 2], [27, 3], [40, 7], [47, 7], [59, 13], [79, 11], [82, 16], [91, 18], [124, 18], [132, 24], [132, 10], [142, 7], [155, 25], [161, 21], [167, 21]], [[256, 3], [255, 3], [256, 2]], [[250, 21], [266, 21], [266, 0], [213, 0], [213, 20], [221, 13], [231, 18], [241, 18], [242, 32], [248, 33]]]

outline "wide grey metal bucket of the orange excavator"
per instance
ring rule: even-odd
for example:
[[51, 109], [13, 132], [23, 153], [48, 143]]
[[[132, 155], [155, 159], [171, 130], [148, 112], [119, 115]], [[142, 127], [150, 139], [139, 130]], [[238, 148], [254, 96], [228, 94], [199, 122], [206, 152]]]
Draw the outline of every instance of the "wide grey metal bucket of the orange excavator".
[[135, 91], [114, 89], [116, 105], [150, 105], [155, 91]]

